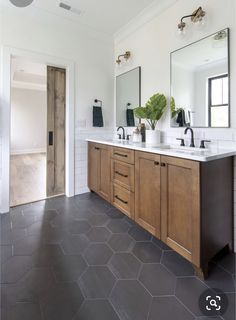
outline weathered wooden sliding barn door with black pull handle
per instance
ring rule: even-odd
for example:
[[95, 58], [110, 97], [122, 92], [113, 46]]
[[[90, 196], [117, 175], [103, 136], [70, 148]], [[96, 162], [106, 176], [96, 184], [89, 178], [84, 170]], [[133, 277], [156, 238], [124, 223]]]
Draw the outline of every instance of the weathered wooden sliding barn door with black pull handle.
[[47, 67], [47, 196], [65, 193], [66, 71]]

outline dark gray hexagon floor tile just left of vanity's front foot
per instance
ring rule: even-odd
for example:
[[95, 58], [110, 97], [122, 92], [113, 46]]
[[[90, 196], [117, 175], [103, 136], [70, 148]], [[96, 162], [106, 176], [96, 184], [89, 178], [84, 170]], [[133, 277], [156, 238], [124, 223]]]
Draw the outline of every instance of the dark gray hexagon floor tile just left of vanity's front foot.
[[165, 251], [161, 263], [176, 276], [193, 276], [193, 266], [175, 251]]

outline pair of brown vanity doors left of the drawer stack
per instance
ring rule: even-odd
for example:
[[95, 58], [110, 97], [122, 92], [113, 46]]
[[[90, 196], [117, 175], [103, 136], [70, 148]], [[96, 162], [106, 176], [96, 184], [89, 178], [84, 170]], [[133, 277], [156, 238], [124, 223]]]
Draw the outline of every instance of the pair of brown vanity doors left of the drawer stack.
[[100, 143], [88, 144], [88, 187], [110, 202], [111, 198], [111, 150]]

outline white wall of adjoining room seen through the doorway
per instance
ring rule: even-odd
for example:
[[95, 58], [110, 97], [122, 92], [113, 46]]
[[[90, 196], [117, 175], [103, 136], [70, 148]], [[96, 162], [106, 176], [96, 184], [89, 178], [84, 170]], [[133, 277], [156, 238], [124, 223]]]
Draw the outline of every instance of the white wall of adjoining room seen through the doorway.
[[11, 89], [11, 154], [46, 152], [46, 91]]

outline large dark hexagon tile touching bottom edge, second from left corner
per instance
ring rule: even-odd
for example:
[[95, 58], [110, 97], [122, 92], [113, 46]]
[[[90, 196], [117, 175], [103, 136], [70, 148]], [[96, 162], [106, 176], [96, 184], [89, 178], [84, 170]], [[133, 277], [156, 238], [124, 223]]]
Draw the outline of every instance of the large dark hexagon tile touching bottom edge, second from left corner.
[[72, 320], [83, 303], [76, 283], [60, 283], [45, 295], [42, 311], [45, 320]]

